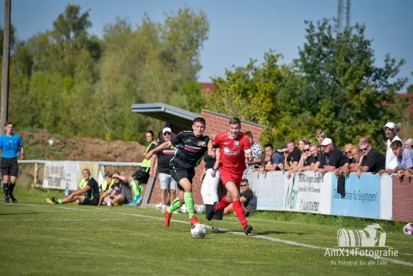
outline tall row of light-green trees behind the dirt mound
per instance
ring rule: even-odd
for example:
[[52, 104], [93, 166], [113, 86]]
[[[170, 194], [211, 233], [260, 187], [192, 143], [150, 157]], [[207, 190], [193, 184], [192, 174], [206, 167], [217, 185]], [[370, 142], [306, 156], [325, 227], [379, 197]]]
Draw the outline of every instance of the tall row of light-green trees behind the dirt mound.
[[9, 118], [20, 127], [145, 143], [145, 131], [163, 122], [132, 114], [132, 103], [200, 110], [194, 81], [209, 30], [202, 10], [185, 6], [166, 13], [163, 23], [145, 16], [136, 28], [117, 19], [103, 39], [88, 34], [91, 26], [90, 10], [69, 4], [52, 30], [27, 41], [14, 43], [12, 28]]

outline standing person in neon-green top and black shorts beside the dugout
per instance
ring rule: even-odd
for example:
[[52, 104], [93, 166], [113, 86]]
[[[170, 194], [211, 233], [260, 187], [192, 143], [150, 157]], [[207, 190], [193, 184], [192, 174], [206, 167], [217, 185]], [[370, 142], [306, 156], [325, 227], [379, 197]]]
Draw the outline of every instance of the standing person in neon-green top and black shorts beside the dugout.
[[154, 141], [154, 132], [152, 130], [148, 130], [146, 132], [146, 141], [148, 141], [148, 147], [146, 148], [145, 152], [143, 152], [143, 161], [141, 168], [134, 172], [134, 174], [130, 177], [129, 182], [130, 186], [132, 186], [134, 192], [134, 199], [132, 204], [137, 205], [139, 203], [139, 199], [141, 198], [141, 193], [143, 191], [143, 186], [146, 185], [148, 179], [150, 177], [149, 170], [150, 170], [150, 158], [146, 158], [146, 154], [153, 150], [155, 146], [157, 146], [157, 142]]

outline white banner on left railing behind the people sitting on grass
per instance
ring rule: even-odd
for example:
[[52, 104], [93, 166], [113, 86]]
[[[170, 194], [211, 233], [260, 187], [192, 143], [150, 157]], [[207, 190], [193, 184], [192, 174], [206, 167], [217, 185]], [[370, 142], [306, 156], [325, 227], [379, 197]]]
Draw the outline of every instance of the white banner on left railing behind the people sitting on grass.
[[76, 161], [48, 161], [44, 165], [43, 188], [77, 190], [77, 163]]

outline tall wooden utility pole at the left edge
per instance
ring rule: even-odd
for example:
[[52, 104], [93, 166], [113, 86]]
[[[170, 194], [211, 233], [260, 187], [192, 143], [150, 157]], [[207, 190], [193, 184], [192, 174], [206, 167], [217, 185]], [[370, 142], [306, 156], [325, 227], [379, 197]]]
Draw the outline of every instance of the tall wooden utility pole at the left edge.
[[8, 120], [8, 81], [10, 70], [10, 13], [12, 0], [4, 0], [4, 30], [3, 30], [3, 72], [1, 74], [1, 106], [0, 106], [0, 135], [5, 130], [4, 123]]

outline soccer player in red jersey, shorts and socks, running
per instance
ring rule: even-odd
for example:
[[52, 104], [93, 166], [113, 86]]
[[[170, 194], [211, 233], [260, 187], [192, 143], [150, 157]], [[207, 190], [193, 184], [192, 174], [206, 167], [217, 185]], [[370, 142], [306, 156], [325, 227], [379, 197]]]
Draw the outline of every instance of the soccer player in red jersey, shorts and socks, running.
[[252, 152], [250, 140], [244, 135], [241, 130], [241, 120], [238, 118], [230, 119], [230, 131], [216, 135], [214, 139], [210, 139], [208, 143], [208, 155], [214, 157], [214, 145], [219, 146], [219, 173], [225, 188], [228, 190], [221, 201], [214, 203], [214, 208], [208, 213], [208, 220], [214, 217], [214, 214], [223, 210], [226, 206], [232, 203], [234, 211], [239, 221], [243, 226], [245, 235], [252, 231], [252, 226], [248, 225], [245, 219], [244, 211], [241, 202], [239, 201], [239, 187], [243, 172], [247, 166], [245, 165], [245, 155], [248, 161], [252, 161]]

